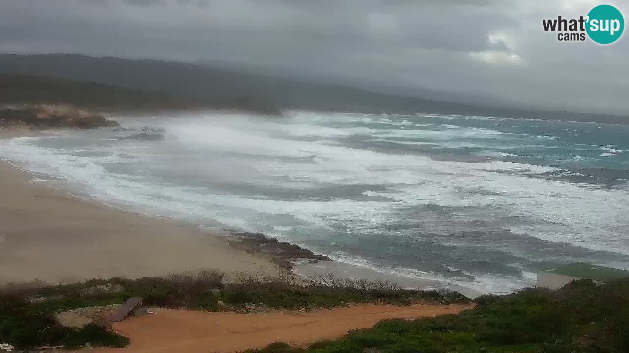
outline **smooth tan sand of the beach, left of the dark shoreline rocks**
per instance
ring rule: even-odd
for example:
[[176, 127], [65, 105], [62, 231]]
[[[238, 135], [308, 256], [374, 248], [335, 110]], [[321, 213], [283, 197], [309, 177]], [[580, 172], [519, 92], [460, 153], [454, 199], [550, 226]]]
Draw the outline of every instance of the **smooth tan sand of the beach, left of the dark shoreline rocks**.
[[[1, 131], [0, 138], [25, 131]], [[29, 182], [0, 161], [0, 283], [162, 276], [215, 268], [274, 276], [282, 269], [192, 225], [113, 209]]]

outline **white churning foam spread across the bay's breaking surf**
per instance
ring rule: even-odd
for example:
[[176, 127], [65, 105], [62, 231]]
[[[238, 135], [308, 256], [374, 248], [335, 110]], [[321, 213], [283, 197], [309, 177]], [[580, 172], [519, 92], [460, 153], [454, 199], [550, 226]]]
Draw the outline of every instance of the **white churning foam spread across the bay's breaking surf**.
[[[162, 125], [174, 138], [160, 145], [164, 149], [156, 149], [155, 144], [150, 143], [118, 143], [116, 140], [104, 148], [100, 142], [67, 149], [45, 148], [41, 138], [36, 137], [12, 139], [4, 143], [5, 148], [0, 150], [0, 154], [10, 160], [28, 163], [30, 170], [65, 178], [94, 197], [114, 204], [129, 205], [150, 214], [220, 222], [245, 231], [267, 232], [286, 240], [292, 240], [292, 232], [299, 229], [307, 229], [310, 234], [318, 236], [326, 231], [337, 231], [335, 224], [339, 223], [347, 227], [348, 235], [360, 236], [365, 230], [373, 229], [374, 225], [398, 222], [402, 217], [396, 212], [399, 208], [433, 204], [442, 207], [494, 207], [503, 215], [530, 220], [528, 225], [517, 225], [512, 230], [514, 234], [629, 254], [629, 244], [619, 237], [618, 231], [626, 225], [626, 214], [629, 214], [626, 202], [628, 190], [603, 190], [530, 177], [557, 170], [548, 166], [507, 161], [437, 161], [421, 155], [389, 155], [338, 143], [338, 139], [353, 134], [367, 134], [376, 140], [396, 143], [454, 146], [461, 139], [474, 139], [483, 144], [512, 135], [454, 124], [445, 124], [441, 129], [433, 130], [435, 126], [414, 122], [404, 123], [408, 128], [414, 125], [413, 129], [406, 130], [343, 127], [346, 122], [355, 120], [387, 121], [387, 124], [396, 120], [390, 116], [364, 114], [293, 114], [292, 122], [260, 121], [247, 114], [206, 114], [204, 117], [165, 119]], [[327, 119], [338, 124], [333, 127], [324, 125]], [[306, 141], [294, 139], [310, 136], [318, 138]], [[408, 141], [411, 136], [427, 141]], [[101, 157], [72, 154], [97, 151], [99, 148], [110, 153], [103, 153]], [[611, 153], [610, 150], [625, 152], [612, 148], [605, 150], [608, 153]], [[169, 157], [173, 151], [179, 153], [178, 158]], [[498, 152], [498, 156], [515, 155]], [[159, 176], [153, 178], [153, 172], [164, 172], [162, 169], [165, 167], [160, 164], [163, 160], [159, 158], [166, 157], [174, 163], [167, 170], [181, 173], [175, 174], [181, 175], [181, 183], [190, 176], [186, 173], [207, 182], [177, 185]], [[140, 161], [146, 162], [142, 165], [147, 170], [130, 168], [129, 173], [114, 173], [108, 169], [109, 163], [134, 166]], [[247, 183], [260, 190], [291, 191], [360, 184], [367, 185], [362, 189], [362, 195], [386, 199], [353, 200], [338, 194], [330, 199], [299, 197], [284, 200], [265, 195], [218, 192], [213, 188], [214, 182]], [[488, 192], [462, 197], [461, 188]], [[343, 258], [343, 254], [335, 256], [343, 261], [352, 261]], [[369, 266], [377, 268], [373, 264]], [[386, 271], [447, 280], [438, 274], [413, 272], [411, 269], [388, 268]], [[530, 280], [530, 274], [524, 272], [521, 278], [468, 274], [476, 280], [467, 285], [491, 291], [525, 286]]]

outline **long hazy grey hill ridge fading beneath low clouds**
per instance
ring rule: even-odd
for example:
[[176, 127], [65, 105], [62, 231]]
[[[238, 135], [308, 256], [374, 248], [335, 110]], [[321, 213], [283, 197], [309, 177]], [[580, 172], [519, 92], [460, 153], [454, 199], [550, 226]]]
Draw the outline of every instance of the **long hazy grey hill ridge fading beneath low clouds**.
[[[628, 124], [629, 117], [582, 112], [525, 111], [372, 92], [345, 85], [304, 82], [272, 75], [163, 60], [84, 55], [0, 55], [0, 72], [97, 82], [152, 90], [204, 106], [269, 107], [321, 111], [461, 114]], [[273, 109], [273, 108], [271, 108]]]

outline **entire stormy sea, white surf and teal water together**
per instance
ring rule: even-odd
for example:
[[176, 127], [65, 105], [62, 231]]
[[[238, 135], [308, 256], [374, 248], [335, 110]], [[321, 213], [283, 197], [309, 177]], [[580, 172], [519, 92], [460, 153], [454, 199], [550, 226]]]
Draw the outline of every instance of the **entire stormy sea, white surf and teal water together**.
[[165, 140], [62, 131], [0, 140], [0, 158], [107, 204], [476, 291], [529, 286], [561, 263], [629, 269], [629, 125], [304, 111], [112, 118], [163, 128]]

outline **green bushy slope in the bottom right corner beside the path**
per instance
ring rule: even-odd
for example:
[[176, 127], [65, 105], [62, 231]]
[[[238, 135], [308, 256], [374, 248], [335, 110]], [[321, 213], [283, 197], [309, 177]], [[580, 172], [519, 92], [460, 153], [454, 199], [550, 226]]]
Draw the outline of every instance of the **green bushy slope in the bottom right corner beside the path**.
[[392, 319], [307, 348], [276, 342], [248, 353], [603, 353], [629, 352], [629, 279], [581, 280], [559, 291], [525, 289], [477, 298], [457, 315]]

